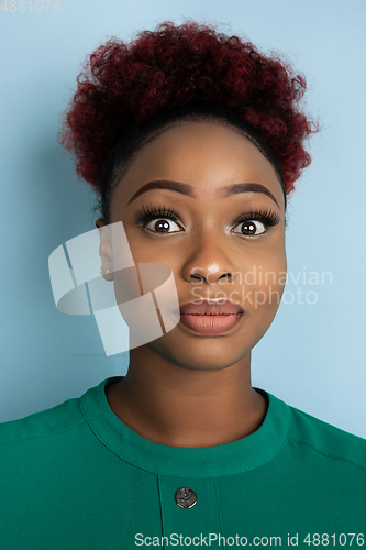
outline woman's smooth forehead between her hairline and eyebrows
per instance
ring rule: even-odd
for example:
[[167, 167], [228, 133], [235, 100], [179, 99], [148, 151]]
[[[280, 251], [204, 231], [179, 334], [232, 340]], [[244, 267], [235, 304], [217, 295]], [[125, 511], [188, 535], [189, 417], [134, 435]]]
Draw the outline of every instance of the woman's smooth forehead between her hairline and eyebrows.
[[236, 183], [265, 185], [285, 205], [270, 162], [240, 131], [217, 121], [179, 121], [148, 142], [115, 189], [124, 204], [145, 183], [170, 179], [196, 187], [204, 198]]

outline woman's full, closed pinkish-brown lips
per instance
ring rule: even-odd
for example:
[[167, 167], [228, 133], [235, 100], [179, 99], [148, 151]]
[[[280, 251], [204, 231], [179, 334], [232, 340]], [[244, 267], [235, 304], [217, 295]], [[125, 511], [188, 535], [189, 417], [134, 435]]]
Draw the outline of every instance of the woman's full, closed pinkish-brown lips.
[[219, 336], [236, 327], [244, 311], [239, 304], [230, 300], [188, 301], [180, 306], [180, 322], [201, 336]]

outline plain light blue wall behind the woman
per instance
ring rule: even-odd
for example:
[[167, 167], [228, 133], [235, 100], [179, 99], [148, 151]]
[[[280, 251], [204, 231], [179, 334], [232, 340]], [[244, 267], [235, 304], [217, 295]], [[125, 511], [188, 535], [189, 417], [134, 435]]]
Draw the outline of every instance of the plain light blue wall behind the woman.
[[307, 110], [323, 129], [309, 142], [313, 161], [289, 201], [288, 270], [331, 272], [332, 284], [289, 282], [286, 290], [314, 290], [318, 301], [280, 305], [253, 351], [252, 383], [366, 438], [365, 0], [60, 0], [59, 12], [46, 6], [37, 12], [33, 0], [32, 13], [29, 3], [23, 13], [0, 10], [0, 421], [126, 372], [129, 354], [106, 356], [93, 316], [55, 307], [48, 256], [95, 229], [97, 218], [93, 193], [57, 143], [58, 118], [100, 43], [189, 16], [285, 54], [307, 77]]

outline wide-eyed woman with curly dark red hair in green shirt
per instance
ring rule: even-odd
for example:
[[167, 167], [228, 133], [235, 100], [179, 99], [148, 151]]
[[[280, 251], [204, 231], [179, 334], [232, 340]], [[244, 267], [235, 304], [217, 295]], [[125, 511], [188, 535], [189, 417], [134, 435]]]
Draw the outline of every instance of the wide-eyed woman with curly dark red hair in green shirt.
[[0, 426], [1, 548], [364, 544], [366, 441], [251, 383], [317, 129], [304, 88], [192, 21], [91, 54], [60, 141], [96, 226], [122, 222], [136, 265], [171, 268], [180, 320], [131, 349], [125, 376]]

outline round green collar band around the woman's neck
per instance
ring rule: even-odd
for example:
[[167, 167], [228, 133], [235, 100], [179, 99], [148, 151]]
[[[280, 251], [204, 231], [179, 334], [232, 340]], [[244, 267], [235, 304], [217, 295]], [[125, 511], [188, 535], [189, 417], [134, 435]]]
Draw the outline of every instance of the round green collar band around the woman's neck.
[[170, 447], [143, 438], [123, 424], [110, 408], [106, 387], [123, 376], [111, 376], [89, 388], [80, 409], [91, 430], [107, 448], [135, 466], [169, 476], [217, 477], [246, 472], [273, 460], [287, 443], [290, 407], [269, 392], [254, 387], [267, 399], [260, 427], [245, 438], [213, 447]]

